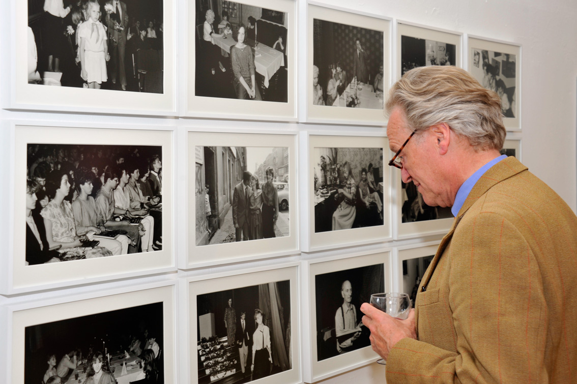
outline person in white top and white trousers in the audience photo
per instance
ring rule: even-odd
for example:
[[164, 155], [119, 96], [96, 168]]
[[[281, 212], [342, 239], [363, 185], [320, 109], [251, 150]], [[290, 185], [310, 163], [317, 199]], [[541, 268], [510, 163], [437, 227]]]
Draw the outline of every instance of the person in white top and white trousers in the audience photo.
[[[121, 172], [122, 170], [122, 172]], [[115, 207], [124, 210], [126, 215], [129, 217], [139, 217], [140, 224], [144, 227], [144, 234], [142, 234], [141, 239], [141, 250], [142, 252], [152, 252], [153, 238], [154, 238], [154, 219], [148, 214], [146, 208], [134, 208], [130, 206], [130, 194], [128, 188], [128, 181], [130, 180], [130, 175], [126, 172], [125, 164], [119, 164], [118, 174], [121, 174], [118, 185], [114, 189], [114, 204]], [[138, 203], [140, 205], [140, 203]]]

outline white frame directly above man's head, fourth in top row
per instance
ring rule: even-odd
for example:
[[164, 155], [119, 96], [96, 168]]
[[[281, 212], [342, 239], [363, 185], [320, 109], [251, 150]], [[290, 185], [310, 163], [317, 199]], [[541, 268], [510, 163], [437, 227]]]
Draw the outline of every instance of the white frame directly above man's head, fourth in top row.
[[[403, 49], [406, 49], [406, 47], [403, 47], [403, 36], [411, 38], [414, 43], [420, 41], [418, 49], [415, 47], [415, 51], [407, 51], [404, 54], [404, 56], [406, 56], [405, 58], [403, 58]], [[427, 40], [432, 43], [432, 47], [426, 47]], [[447, 48], [446, 44], [454, 45], [454, 52], [445, 50], [445, 48]], [[434, 57], [434, 60], [438, 62], [441, 61], [439, 57], [443, 53], [449, 55], [449, 63], [454, 57], [455, 63], [451, 63], [451, 65], [462, 68], [463, 33], [433, 28], [408, 21], [398, 21], [396, 24], [396, 69], [394, 78], [400, 79], [403, 75], [403, 60], [407, 61], [406, 69], [411, 69], [415, 66], [424, 66], [424, 64], [430, 65], [429, 55], [427, 55], [428, 51], [430, 51], [430, 56]], [[417, 56], [417, 59], [415, 59], [415, 56]]]

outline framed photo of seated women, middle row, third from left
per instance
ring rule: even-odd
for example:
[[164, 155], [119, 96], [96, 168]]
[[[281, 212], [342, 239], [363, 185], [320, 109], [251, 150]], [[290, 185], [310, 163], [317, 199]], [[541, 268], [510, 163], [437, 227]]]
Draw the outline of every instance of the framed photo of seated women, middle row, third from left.
[[390, 237], [387, 138], [303, 135], [309, 148], [309, 250]]

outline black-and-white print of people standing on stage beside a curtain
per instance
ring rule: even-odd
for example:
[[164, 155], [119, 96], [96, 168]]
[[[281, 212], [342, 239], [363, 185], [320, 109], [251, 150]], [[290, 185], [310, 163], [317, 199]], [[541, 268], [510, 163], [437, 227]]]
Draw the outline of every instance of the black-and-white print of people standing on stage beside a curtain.
[[198, 383], [246, 383], [292, 368], [290, 280], [198, 295], [197, 315]]

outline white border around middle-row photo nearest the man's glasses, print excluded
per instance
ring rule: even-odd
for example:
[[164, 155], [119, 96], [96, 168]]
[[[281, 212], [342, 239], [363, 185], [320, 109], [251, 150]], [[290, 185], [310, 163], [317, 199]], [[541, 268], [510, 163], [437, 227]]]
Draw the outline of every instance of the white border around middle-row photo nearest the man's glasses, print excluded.
[[[348, 230], [314, 232], [314, 173], [312, 172], [313, 143], [310, 136], [334, 136], [338, 140], [346, 138], [357, 138], [361, 141], [373, 138], [383, 140], [383, 181], [388, 185], [383, 191], [383, 226], [372, 226], [363, 228], [353, 228]], [[313, 139], [314, 141], [314, 139]], [[370, 144], [369, 144], [370, 145]], [[369, 132], [334, 132], [334, 131], [302, 131], [299, 134], [300, 166], [301, 174], [301, 248], [303, 252], [316, 252], [320, 250], [344, 248], [349, 246], [359, 246], [376, 242], [385, 242], [392, 239], [392, 189], [391, 172], [387, 165], [386, 156], [388, 153], [388, 138], [386, 135], [373, 134]], [[324, 147], [343, 147], [342, 145], [331, 145], [328, 142]], [[349, 145], [345, 147], [361, 147], [359, 145]], [[368, 146], [369, 147], [369, 146]], [[370, 146], [376, 148], [376, 145]], [[387, 199], [388, 197], [388, 199]]]

